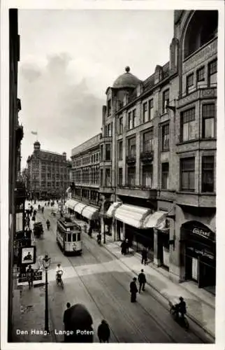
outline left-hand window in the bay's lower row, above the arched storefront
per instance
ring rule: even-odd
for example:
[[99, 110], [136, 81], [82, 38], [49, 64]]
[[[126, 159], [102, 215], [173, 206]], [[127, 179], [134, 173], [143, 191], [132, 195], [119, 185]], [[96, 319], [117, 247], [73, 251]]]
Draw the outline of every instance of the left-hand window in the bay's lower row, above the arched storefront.
[[180, 160], [182, 191], [194, 192], [194, 157]]

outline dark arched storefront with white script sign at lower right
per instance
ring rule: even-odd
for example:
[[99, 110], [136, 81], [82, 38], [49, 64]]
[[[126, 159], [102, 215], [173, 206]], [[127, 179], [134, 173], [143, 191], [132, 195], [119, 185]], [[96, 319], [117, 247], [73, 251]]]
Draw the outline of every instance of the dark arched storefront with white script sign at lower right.
[[185, 279], [198, 283], [215, 293], [216, 242], [215, 233], [198, 221], [189, 221], [181, 227], [184, 244]]

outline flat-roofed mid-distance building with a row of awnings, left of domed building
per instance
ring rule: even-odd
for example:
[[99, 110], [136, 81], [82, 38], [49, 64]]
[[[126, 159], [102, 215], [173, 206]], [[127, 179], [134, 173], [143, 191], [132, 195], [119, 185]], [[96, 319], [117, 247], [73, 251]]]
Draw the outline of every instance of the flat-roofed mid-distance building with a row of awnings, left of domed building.
[[72, 149], [71, 200], [66, 206], [90, 225], [99, 220], [99, 163], [101, 134]]

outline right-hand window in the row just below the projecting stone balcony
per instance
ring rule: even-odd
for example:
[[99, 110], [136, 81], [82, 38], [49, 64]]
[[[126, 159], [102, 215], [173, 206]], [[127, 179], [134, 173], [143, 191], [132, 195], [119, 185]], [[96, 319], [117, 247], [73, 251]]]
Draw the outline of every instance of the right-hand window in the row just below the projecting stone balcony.
[[215, 123], [215, 104], [203, 104], [203, 139], [213, 139]]

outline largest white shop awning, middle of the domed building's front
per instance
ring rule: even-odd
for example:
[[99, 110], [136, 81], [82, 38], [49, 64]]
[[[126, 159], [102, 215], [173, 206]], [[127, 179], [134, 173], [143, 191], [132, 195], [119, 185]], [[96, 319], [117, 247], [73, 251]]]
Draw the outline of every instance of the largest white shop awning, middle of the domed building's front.
[[115, 210], [115, 218], [123, 223], [126, 223], [127, 225], [133, 226], [134, 228], [142, 228], [143, 219], [149, 213], [149, 208], [122, 204]]

